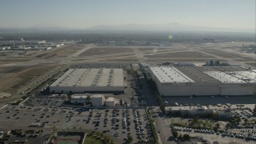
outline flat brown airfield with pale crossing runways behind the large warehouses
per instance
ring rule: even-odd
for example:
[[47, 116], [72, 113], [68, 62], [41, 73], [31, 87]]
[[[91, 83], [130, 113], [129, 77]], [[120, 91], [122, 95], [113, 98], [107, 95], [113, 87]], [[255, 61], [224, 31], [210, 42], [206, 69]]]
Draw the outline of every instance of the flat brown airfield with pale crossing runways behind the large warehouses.
[[74, 64], [193, 62], [201, 66], [207, 59], [217, 59], [254, 69], [255, 54], [238, 51], [243, 44], [251, 42], [172, 43], [172, 46], [68, 44], [35, 54], [10, 54], [0, 58], [0, 102], [2, 106], [18, 99], [31, 83], [50, 78]]

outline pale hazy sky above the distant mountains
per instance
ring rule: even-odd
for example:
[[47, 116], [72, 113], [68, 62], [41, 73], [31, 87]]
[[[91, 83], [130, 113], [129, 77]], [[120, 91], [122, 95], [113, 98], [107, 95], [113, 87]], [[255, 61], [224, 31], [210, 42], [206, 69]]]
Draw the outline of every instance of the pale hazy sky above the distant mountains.
[[0, 27], [170, 22], [255, 29], [255, 0], [0, 0]]

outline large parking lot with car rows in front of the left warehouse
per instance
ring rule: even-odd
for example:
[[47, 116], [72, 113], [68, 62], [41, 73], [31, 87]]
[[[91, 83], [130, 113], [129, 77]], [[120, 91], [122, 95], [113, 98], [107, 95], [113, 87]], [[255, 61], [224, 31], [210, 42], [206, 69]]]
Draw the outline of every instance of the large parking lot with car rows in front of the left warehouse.
[[[46, 101], [43, 100], [42, 103]], [[0, 130], [29, 130], [35, 122], [40, 123], [42, 127], [34, 129], [53, 130], [56, 127], [58, 130], [96, 130], [113, 137], [117, 143], [126, 142], [129, 134], [133, 137], [133, 142], [138, 142], [139, 139], [144, 142], [154, 140], [144, 109], [84, 110], [66, 107], [6, 106], [0, 110]]]

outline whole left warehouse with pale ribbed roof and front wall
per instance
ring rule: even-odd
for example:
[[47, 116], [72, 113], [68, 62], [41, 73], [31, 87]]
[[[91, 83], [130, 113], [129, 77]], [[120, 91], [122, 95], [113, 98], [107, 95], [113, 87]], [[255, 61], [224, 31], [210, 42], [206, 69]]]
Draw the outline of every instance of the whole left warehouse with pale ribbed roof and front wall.
[[70, 69], [50, 85], [50, 93], [123, 93], [122, 69]]

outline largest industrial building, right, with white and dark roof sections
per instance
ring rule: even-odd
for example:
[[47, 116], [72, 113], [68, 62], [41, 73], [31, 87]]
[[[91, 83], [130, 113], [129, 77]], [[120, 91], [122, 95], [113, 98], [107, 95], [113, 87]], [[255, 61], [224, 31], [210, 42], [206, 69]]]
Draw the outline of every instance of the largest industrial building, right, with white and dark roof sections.
[[150, 66], [163, 96], [252, 95], [256, 73], [237, 66]]

